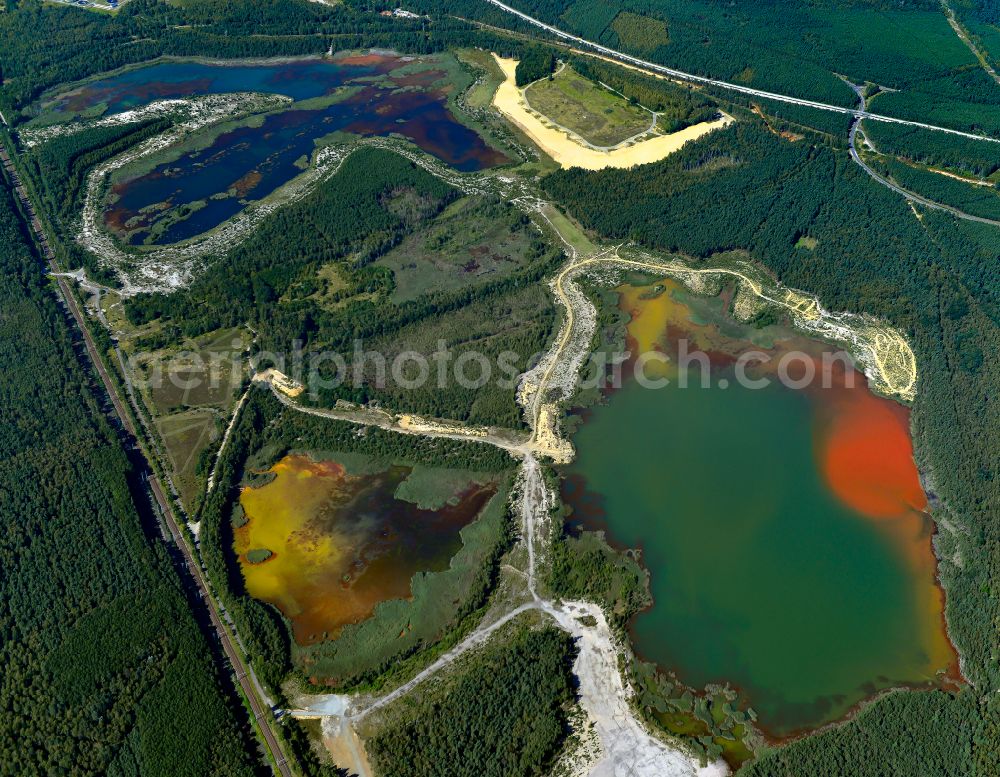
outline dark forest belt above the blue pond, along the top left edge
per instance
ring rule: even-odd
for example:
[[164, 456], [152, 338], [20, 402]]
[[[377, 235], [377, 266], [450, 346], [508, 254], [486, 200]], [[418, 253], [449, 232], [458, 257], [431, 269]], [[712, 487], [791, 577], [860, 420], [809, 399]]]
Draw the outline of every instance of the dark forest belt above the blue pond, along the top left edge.
[[[162, 55], [274, 57], [388, 47], [411, 54], [480, 46], [521, 56], [525, 43], [458, 19], [383, 17], [361, 0], [131, 0], [114, 15], [20, 0], [0, 15], [0, 110], [19, 118], [46, 89]], [[58, 52], [54, 55], [53, 52]]]

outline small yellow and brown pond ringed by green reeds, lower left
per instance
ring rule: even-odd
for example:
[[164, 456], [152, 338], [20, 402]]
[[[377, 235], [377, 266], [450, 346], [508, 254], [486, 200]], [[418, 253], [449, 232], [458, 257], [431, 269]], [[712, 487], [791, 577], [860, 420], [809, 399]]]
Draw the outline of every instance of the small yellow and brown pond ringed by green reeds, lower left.
[[497, 490], [468, 483], [425, 509], [397, 498], [409, 467], [353, 475], [291, 454], [268, 473], [270, 482], [240, 494], [246, 522], [234, 548], [247, 592], [277, 607], [303, 646], [336, 638], [380, 602], [409, 598], [415, 574], [447, 569], [461, 529]]

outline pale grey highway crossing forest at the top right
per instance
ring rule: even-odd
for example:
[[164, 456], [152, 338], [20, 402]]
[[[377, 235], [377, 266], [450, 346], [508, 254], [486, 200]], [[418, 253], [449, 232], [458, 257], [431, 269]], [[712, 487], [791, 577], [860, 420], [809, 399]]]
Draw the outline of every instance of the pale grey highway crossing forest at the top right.
[[959, 135], [963, 138], [971, 138], [972, 140], [984, 140], [990, 143], [1000, 143], [998, 138], [990, 138], [985, 135], [976, 135], [972, 132], [962, 132], [961, 130], [950, 129], [948, 127], [939, 127], [934, 124], [924, 124], [919, 121], [910, 121], [908, 119], [899, 119], [895, 116], [884, 116], [879, 113], [871, 113], [870, 111], [859, 109], [859, 108], [847, 108], [842, 105], [830, 105], [828, 103], [821, 103], [815, 100], [805, 100], [800, 97], [789, 97], [785, 94], [777, 94], [775, 92], [765, 92], [763, 89], [752, 89], [749, 86], [744, 86], [742, 84], [731, 84], [728, 81], [720, 81], [717, 78], [708, 78], [706, 76], [695, 75], [694, 73], [685, 73], [683, 70], [677, 70], [672, 67], [666, 67], [665, 65], [658, 65], [655, 62], [648, 62], [644, 59], [639, 59], [638, 57], [633, 57], [630, 54], [624, 54], [615, 49], [610, 49], [607, 46], [602, 46], [599, 43], [594, 43], [586, 38], [580, 38], [576, 35], [571, 35], [568, 32], [560, 30], [558, 27], [553, 27], [550, 24], [546, 24], [533, 16], [528, 16], [528, 14], [518, 11], [516, 8], [511, 8], [506, 3], [500, 2], [500, 0], [484, 0], [491, 5], [495, 5], [507, 13], [517, 16], [519, 19], [532, 24], [535, 27], [539, 27], [547, 32], [552, 33], [558, 38], [570, 41], [578, 46], [584, 46], [586, 48], [592, 49], [594, 51], [600, 52], [605, 56], [618, 59], [622, 62], [627, 62], [630, 65], [641, 68], [643, 70], [648, 70], [652, 73], [657, 73], [660, 75], [670, 76], [671, 78], [676, 78], [679, 81], [690, 81], [696, 84], [706, 84], [708, 86], [715, 86], [720, 89], [728, 89], [731, 92], [739, 92], [740, 94], [748, 94], [752, 97], [762, 97], [768, 100], [776, 100], [777, 102], [789, 103], [791, 105], [801, 105], [806, 108], [815, 108], [820, 111], [831, 111], [833, 113], [844, 113], [854, 116], [859, 119], [871, 119], [872, 121], [884, 121], [890, 124], [905, 124], [908, 127], [920, 127], [922, 129], [934, 130], [935, 132], [946, 132], [949, 135]]

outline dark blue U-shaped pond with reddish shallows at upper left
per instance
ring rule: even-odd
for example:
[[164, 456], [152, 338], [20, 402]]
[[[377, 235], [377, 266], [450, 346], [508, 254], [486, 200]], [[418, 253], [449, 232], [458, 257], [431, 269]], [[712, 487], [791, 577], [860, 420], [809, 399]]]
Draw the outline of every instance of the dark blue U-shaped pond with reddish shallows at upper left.
[[206, 135], [196, 148], [168, 150], [152, 169], [124, 171], [114, 181], [106, 225], [132, 245], [170, 244], [218, 226], [300, 175], [316, 141], [335, 132], [400, 135], [463, 172], [509, 161], [449, 107], [457, 67], [448, 55], [391, 54], [256, 65], [161, 62], [90, 82], [43, 107], [115, 113], [233, 91], [313, 101]]

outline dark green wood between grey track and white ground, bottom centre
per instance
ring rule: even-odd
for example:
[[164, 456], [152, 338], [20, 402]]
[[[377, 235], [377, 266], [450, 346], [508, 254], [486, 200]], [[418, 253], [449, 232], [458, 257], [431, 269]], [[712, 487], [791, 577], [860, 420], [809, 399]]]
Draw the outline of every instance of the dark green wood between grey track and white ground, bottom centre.
[[451, 687], [367, 741], [385, 777], [545, 774], [567, 730], [573, 646], [562, 631], [523, 629], [469, 658]]

